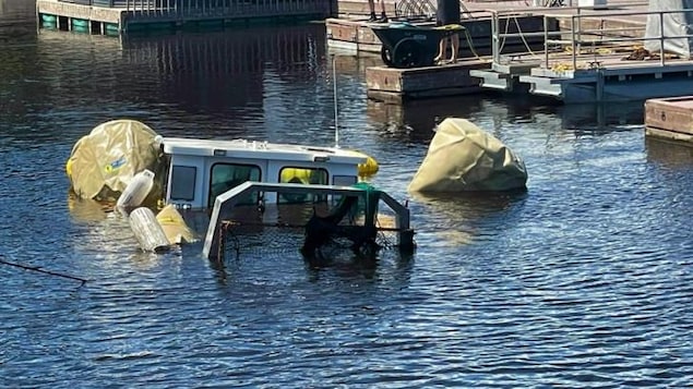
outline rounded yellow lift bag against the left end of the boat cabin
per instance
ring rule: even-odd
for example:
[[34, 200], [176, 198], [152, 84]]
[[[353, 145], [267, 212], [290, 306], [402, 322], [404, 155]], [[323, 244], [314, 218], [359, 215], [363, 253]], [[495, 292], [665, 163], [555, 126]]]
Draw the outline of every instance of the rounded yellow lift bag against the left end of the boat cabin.
[[[65, 166], [73, 192], [80, 198], [113, 200], [138, 172], [159, 172], [156, 136], [134, 120], [113, 120], [94, 127], [72, 147]], [[160, 192], [160, 184], [155, 183], [152, 194]]]

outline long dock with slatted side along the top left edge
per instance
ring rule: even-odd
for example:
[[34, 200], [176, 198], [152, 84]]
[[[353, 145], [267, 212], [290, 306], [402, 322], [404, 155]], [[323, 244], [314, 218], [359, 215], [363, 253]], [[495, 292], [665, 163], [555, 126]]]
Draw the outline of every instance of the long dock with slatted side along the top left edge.
[[40, 28], [117, 35], [325, 19], [321, 0], [36, 0]]

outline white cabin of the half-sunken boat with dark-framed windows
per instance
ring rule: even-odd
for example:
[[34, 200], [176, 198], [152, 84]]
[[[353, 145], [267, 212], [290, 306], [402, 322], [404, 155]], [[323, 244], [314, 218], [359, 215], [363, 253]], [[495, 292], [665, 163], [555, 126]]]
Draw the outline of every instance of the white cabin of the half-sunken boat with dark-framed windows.
[[[165, 137], [168, 159], [166, 203], [211, 208], [216, 196], [246, 182], [353, 185], [367, 156], [332, 147], [234, 139]], [[266, 203], [312, 200], [310, 195], [263, 194]], [[250, 202], [256, 203], [259, 194]]]

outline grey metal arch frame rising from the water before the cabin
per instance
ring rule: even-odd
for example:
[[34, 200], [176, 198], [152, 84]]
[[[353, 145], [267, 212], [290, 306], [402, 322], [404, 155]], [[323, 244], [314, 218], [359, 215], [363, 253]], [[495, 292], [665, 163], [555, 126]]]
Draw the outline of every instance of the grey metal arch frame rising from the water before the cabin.
[[[222, 243], [223, 217], [228, 215], [237, 204], [248, 198], [252, 193], [283, 193], [283, 194], [313, 194], [313, 195], [332, 195], [332, 196], [360, 196], [367, 199], [369, 191], [354, 186], [338, 185], [304, 185], [294, 183], [263, 183], [247, 181], [220, 195], [214, 202], [214, 208], [210, 217], [210, 226], [204, 240], [203, 255], [210, 259], [222, 258], [219, 247]], [[409, 208], [399, 204], [395, 198], [385, 192], [379, 193], [379, 200], [384, 203], [395, 215], [395, 228], [397, 242], [396, 245], [403, 251], [409, 251], [414, 247], [414, 232], [409, 226]]]

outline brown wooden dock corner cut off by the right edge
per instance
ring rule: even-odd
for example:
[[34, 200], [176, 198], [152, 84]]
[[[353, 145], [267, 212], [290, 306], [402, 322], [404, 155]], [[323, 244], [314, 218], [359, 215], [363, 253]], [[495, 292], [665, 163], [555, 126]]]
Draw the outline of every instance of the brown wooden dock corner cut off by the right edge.
[[645, 101], [645, 135], [693, 143], [693, 96]]

